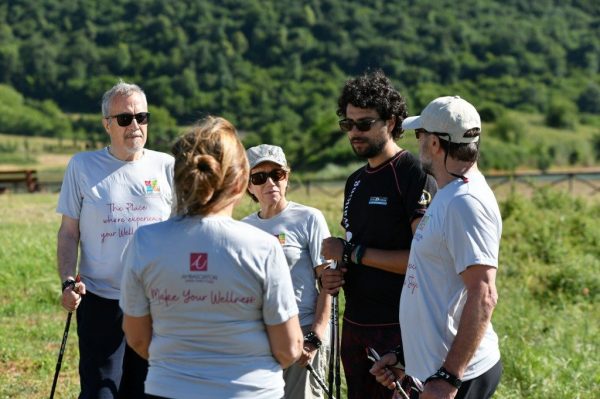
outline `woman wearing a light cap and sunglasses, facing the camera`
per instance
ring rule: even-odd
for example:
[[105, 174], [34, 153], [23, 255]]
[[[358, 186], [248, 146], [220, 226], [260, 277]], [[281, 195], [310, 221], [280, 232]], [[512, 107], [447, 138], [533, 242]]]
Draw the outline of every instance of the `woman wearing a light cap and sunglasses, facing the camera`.
[[251, 169], [248, 194], [259, 203], [260, 210], [243, 221], [275, 236], [283, 247], [304, 333], [300, 360], [284, 370], [284, 397], [324, 398], [306, 366], [310, 364], [321, 378], [326, 375], [331, 296], [319, 293], [316, 279], [326, 266], [321, 243], [330, 236], [329, 228], [319, 210], [287, 200], [290, 168], [281, 147], [262, 144], [246, 153]]

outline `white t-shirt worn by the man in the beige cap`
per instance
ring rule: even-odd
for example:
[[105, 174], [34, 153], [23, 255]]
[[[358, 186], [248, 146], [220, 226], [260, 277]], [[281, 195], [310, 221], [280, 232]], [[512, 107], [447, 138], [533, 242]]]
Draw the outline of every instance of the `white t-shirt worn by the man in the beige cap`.
[[[498, 267], [500, 210], [480, 173], [438, 190], [415, 232], [400, 299], [407, 374], [424, 381], [439, 369], [456, 337], [467, 291], [460, 273], [471, 265]], [[500, 360], [492, 324], [463, 380]]]

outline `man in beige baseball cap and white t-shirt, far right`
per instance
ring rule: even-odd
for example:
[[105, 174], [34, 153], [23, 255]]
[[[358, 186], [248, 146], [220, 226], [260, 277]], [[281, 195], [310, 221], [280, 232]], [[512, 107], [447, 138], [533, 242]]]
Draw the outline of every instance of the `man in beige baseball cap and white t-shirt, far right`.
[[[477, 168], [481, 120], [458, 96], [432, 101], [414, 129], [421, 162], [438, 192], [417, 227], [400, 300], [406, 374], [424, 382], [420, 399], [484, 399], [502, 374], [491, 317], [498, 295], [496, 270], [502, 219], [496, 198]], [[394, 353], [372, 373], [392, 386]]]

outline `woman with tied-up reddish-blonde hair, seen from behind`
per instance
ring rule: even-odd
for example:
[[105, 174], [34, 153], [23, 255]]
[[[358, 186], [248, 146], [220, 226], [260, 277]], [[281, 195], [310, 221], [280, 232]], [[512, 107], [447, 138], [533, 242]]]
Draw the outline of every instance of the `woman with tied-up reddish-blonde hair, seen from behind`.
[[146, 395], [281, 398], [302, 332], [281, 246], [231, 217], [248, 182], [244, 147], [208, 117], [173, 155], [178, 216], [136, 231], [121, 289], [127, 342], [149, 358]]

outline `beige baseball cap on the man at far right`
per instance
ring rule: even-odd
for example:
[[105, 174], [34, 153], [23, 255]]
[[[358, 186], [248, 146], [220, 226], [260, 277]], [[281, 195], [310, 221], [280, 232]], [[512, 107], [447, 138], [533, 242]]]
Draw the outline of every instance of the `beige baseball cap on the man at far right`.
[[459, 96], [438, 97], [423, 109], [420, 116], [404, 119], [402, 128], [447, 133], [450, 137], [439, 137], [452, 143], [475, 143], [479, 141], [479, 135], [463, 136], [467, 130], [481, 129], [481, 118], [475, 107]]

